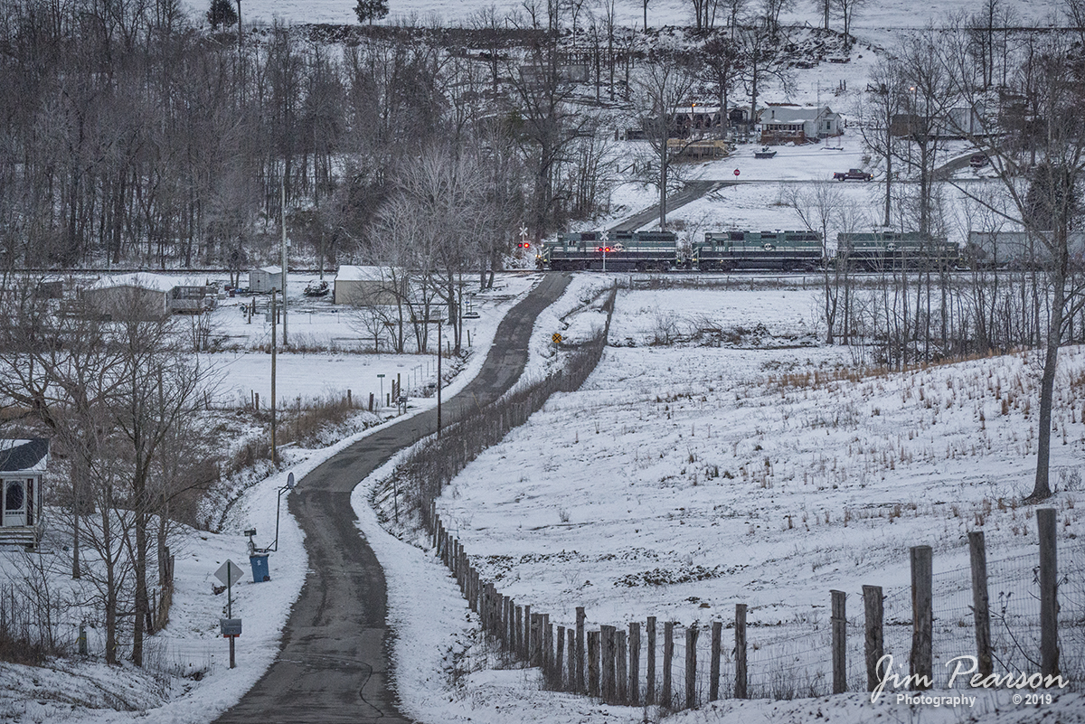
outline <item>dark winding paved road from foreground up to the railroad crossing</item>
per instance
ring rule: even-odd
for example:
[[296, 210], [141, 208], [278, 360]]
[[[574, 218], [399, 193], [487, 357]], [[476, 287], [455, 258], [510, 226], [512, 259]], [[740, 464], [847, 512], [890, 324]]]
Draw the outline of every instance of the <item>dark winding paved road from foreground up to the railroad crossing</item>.
[[[561, 296], [569, 276], [547, 274], [501, 321], [486, 362], [444, 406], [456, 421], [508, 390], [527, 362], [535, 318]], [[309, 473], [290, 497], [305, 531], [309, 572], [267, 673], [221, 724], [245, 722], [406, 722], [388, 682], [384, 572], [358, 532], [350, 491], [401, 448], [437, 427], [431, 410], [391, 425]]]

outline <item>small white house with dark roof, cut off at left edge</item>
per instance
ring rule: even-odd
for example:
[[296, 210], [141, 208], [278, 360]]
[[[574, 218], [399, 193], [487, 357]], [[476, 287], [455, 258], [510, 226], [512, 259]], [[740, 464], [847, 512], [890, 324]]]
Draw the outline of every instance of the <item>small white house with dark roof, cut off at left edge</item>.
[[37, 547], [49, 440], [0, 440], [0, 545]]

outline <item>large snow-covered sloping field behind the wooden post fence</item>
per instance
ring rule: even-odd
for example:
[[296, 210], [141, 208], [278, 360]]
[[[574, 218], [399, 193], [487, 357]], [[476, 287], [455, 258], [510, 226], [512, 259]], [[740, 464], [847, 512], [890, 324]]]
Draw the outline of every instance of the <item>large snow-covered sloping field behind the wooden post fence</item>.
[[[816, 345], [813, 303], [801, 289], [621, 294], [614, 346], [589, 382], [552, 399], [470, 465], [439, 501], [445, 525], [501, 593], [547, 611], [556, 625], [573, 623], [575, 607], [585, 606], [589, 625], [656, 616], [703, 628], [729, 622], [735, 604], [748, 604], [758, 696], [826, 690], [830, 590], [848, 594], [848, 678], [861, 688], [860, 589], [883, 586], [886, 618], [910, 618], [914, 545], [934, 550], [936, 661], [968, 654], [965, 534], [983, 530], [992, 595], [1006, 604], [1005, 630], [996, 631], [1000, 656], [1027, 665], [1009, 636], [1026, 649], [1036, 644], [1029, 624], [1036, 522], [1018, 503], [1031, 490], [1036, 357], [857, 377], [842, 367], [846, 350]], [[711, 338], [701, 342], [710, 346], [654, 344], [667, 331], [707, 326], [723, 331], [720, 346]], [[1080, 676], [1085, 350], [1068, 348], [1062, 360], [1058, 494], [1046, 505], [1058, 510], [1071, 582], [1063, 621], [1078, 621], [1063, 632], [1064, 667]], [[907, 641], [906, 628], [886, 633], [898, 660]], [[474, 656], [485, 660], [478, 649]], [[499, 721], [498, 707], [516, 689], [528, 701], [540, 696], [537, 681], [489, 671], [481, 660], [460, 687], [475, 721]], [[859, 697], [817, 706], [846, 721], [911, 715], [884, 702], [863, 706]], [[1077, 721], [1070, 717], [1082, 712], [1076, 695], [1059, 706], [1059, 721]], [[976, 707], [970, 713], [986, 711], [983, 721], [995, 721], [997, 709], [1007, 721], [1029, 721], [1008, 699], [981, 697]], [[802, 721], [809, 704], [777, 708]], [[720, 717], [751, 711], [717, 709]], [[724, 721], [713, 716], [688, 719]]]

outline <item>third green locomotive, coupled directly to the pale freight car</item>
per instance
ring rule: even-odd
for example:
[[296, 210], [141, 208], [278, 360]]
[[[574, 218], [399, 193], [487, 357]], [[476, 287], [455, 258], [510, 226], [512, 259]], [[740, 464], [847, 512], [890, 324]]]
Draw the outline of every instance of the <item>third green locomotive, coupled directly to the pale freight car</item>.
[[837, 235], [837, 263], [853, 269], [949, 269], [959, 261], [960, 247], [944, 236], [924, 238], [916, 231]]

